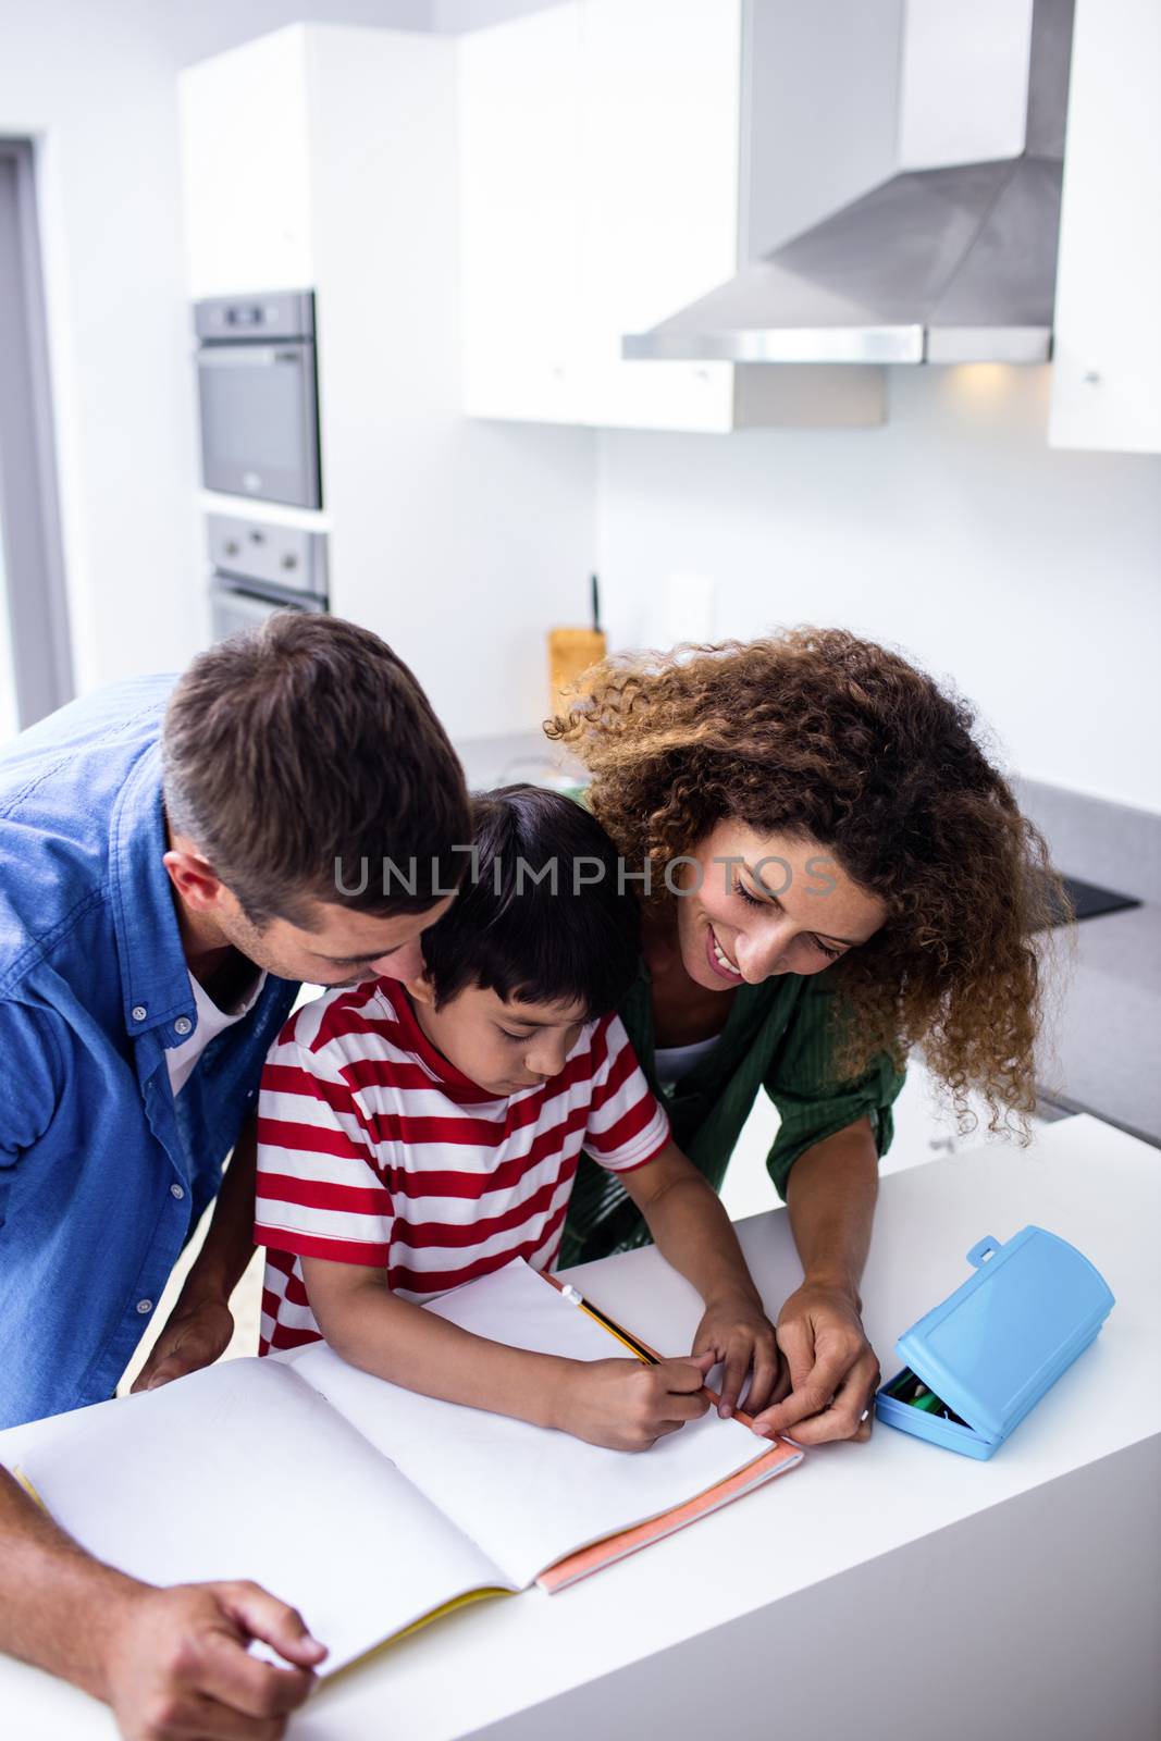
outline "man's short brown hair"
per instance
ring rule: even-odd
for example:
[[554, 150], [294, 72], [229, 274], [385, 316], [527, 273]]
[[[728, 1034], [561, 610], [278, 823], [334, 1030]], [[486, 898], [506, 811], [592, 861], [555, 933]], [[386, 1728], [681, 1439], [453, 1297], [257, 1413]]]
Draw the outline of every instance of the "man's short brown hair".
[[[425, 912], [463, 876], [470, 806], [444, 728], [386, 642], [338, 616], [279, 611], [200, 653], [162, 761], [171, 829], [256, 924], [303, 924], [312, 900]], [[414, 893], [385, 890], [385, 858]]]

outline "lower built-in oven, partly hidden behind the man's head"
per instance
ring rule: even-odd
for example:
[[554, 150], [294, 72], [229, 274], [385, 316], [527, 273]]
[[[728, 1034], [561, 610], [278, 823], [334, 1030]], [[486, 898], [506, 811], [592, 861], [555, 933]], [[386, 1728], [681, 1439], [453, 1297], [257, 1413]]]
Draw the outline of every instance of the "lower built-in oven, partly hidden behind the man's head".
[[233, 514], [209, 514], [205, 541], [214, 641], [261, 623], [272, 611], [327, 609], [324, 533]]

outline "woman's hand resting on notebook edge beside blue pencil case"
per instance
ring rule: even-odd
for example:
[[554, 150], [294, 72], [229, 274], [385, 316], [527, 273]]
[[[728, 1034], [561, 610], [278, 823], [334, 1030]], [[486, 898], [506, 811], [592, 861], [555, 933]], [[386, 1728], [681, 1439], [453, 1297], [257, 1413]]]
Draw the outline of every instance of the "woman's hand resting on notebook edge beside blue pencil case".
[[[799, 1445], [870, 1438], [879, 1361], [846, 1288], [804, 1281], [778, 1313], [787, 1372], [755, 1433], [789, 1433]], [[782, 1395], [778, 1395], [782, 1393]]]

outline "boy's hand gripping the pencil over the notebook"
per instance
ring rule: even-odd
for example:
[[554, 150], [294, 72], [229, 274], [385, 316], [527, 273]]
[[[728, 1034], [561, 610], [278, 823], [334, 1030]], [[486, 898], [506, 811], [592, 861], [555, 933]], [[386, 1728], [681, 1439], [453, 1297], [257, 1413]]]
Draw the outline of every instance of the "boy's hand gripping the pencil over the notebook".
[[578, 1360], [567, 1363], [554, 1426], [609, 1450], [649, 1450], [665, 1433], [698, 1421], [712, 1354], [689, 1360]]

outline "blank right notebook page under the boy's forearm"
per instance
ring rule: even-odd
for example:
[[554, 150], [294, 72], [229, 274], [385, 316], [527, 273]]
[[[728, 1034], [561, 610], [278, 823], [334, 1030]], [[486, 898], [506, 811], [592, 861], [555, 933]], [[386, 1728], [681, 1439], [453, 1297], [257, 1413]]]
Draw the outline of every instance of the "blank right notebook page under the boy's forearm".
[[[625, 1353], [519, 1259], [426, 1309], [512, 1348], [573, 1360]], [[648, 1452], [602, 1450], [567, 1433], [416, 1396], [348, 1367], [320, 1342], [294, 1356], [294, 1370], [392, 1457], [513, 1586], [533, 1583], [576, 1548], [684, 1504], [769, 1450], [748, 1428], [714, 1412]]]

